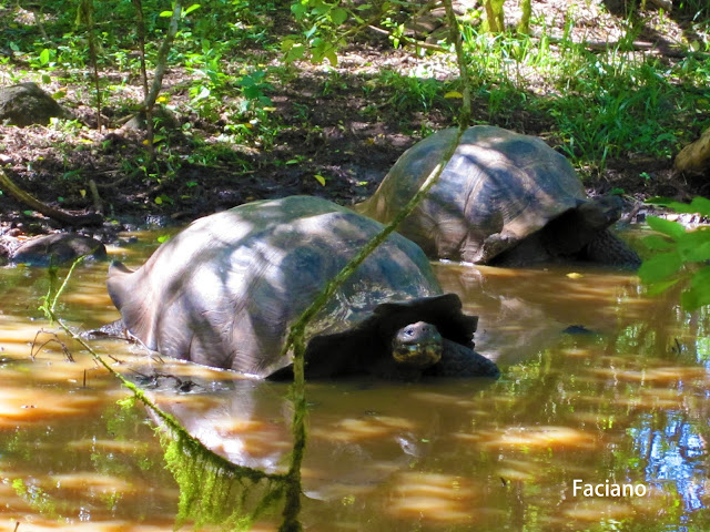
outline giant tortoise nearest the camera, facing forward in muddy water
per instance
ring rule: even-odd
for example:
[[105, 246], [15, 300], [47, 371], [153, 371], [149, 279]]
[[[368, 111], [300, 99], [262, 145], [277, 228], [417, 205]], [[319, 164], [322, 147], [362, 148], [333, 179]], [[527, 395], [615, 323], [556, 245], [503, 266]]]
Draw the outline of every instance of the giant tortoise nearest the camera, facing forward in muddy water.
[[[193, 222], [131, 272], [109, 269], [124, 326], [150, 349], [257, 377], [292, 377], [290, 326], [382, 225], [325, 200], [254, 202]], [[393, 234], [306, 330], [306, 377], [490, 376], [477, 318]]]

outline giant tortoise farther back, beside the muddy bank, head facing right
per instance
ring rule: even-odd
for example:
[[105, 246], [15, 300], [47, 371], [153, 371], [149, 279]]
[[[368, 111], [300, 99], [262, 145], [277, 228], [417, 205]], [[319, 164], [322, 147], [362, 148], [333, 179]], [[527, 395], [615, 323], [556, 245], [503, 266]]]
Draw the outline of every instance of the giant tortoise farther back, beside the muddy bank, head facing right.
[[[407, 150], [356, 207], [390, 222], [455, 140], [435, 133]], [[433, 258], [525, 266], [558, 259], [636, 267], [638, 255], [608, 227], [618, 196], [589, 198], [571, 164], [542, 140], [469, 127], [439, 181], [398, 231]]]

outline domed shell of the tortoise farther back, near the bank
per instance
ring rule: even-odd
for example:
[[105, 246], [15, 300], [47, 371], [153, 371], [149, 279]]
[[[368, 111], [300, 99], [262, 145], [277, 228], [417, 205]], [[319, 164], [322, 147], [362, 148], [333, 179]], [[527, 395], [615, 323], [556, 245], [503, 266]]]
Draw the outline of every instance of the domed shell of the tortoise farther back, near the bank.
[[[358, 211], [388, 223], [455, 136], [443, 130], [407, 150]], [[477, 125], [398, 231], [428, 256], [486, 263], [587, 201], [571, 164], [542, 140]]]

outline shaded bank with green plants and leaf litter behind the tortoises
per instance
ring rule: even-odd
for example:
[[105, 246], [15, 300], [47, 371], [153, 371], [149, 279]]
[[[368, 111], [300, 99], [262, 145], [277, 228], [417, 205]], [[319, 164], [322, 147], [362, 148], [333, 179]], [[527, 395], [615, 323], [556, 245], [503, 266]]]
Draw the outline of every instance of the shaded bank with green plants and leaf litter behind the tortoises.
[[[168, 25], [163, 3], [143, 1], [149, 70]], [[515, 28], [520, 13], [517, 2], [508, 3], [506, 23]], [[183, 11], [158, 100], [166, 111], [149, 146], [144, 132], [123, 127], [142, 100], [133, 2], [100, 2], [93, 13], [99, 131], [75, 2], [0, 1], [7, 35], [0, 83], [36, 81], [77, 117], [48, 127], [1, 126], [0, 163], [13, 181], [69, 209], [92, 207], [93, 181], [108, 217], [135, 223], [186, 221], [288, 194], [348, 204], [372, 194], [404, 150], [454, 124], [456, 66], [424, 4], [379, 6], [385, 14], [368, 18], [369, 28], [357, 23], [357, 13], [369, 13], [357, 6], [195, 6]], [[676, 2], [669, 13], [650, 1], [641, 9], [542, 0], [534, 2], [527, 35], [490, 34], [479, 23], [481, 8], [458, 7], [475, 123], [542, 136], [570, 157], [595, 193], [640, 201], [710, 192], [706, 176], [672, 172], [674, 154], [710, 124], [703, 2]], [[422, 33], [417, 21], [425, 19]], [[427, 35], [427, 49], [412, 45]], [[298, 59], [303, 43], [323, 61]], [[32, 231], [37, 218], [24, 208], [0, 195], [6, 226]]]

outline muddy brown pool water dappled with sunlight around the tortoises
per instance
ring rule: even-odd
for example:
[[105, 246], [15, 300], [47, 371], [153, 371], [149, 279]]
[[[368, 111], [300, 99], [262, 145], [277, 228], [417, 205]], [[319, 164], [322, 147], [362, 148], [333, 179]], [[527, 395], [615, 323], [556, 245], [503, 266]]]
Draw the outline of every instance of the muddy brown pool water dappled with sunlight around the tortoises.
[[[139, 265], [151, 247], [113, 253]], [[480, 316], [477, 349], [503, 378], [308, 385], [305, 530], [710, 530], [709, 313], [648, 298], [627, 274], [435, 268]], [[73, 327], [118, 317], [105, 270], [71, 279], [58, 310]], [[0, 269], [0, 531], [173, 530], [180, 489], [146, 410], [121, 406], [131, 393], [73, 342], [74, 362], [57, 341], [30, 359], [54, 330], [37, 309], [47, 287], [42, 269]], [[562, 332], [575, 325], [588, 332]], [[93, 345], [134, 378], [196, 382], [150, 392], [217, 453], [285, 470], [287, 386]]]

